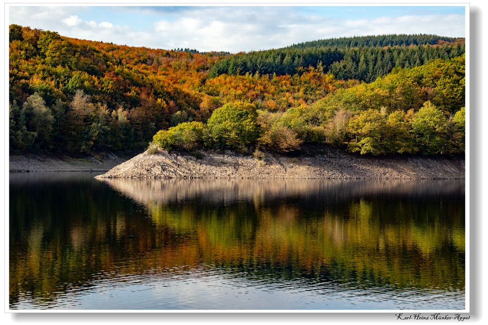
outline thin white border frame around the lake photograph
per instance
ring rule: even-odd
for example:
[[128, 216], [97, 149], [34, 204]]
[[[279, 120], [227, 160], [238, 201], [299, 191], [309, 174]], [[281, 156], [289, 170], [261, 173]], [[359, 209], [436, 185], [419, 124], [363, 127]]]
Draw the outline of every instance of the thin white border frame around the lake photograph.
[[[51, 314], [51, 313], [326, 313], [326, 314], [359, 314], [359, 313], [366, 313], [366, 314], [378, 314], [378, 313], [404, 313], [405, 315], [413, 314], [413, 313], [423, 313], [425, 316], [429, 316], [431, 313], [469, 313], [470, 312], [470, 297], [471, 297], [471, 290], [470, 290], [470, 155], [469, 155], [469, 148], [470, 148], [470, 128], [469, 128], [469, 116], [470, 116], [470, 4], [469, 3], [391, 3], [386, 1], [378, 1], [376, 3], [363, 3], [361, 1], [351, 1], [349, 3], [325, 3], [325, 2], [306, 2], [306, 3], [296, 3], [291, 2], [289, 0], [279, 1], [279, 0], [268, 0], [269, 2], [263, 3], [242, 3], [242, 2], [229, 2], [218, 0], [218, 2], [213, 3], [206, 3], [202, 0], [197, 0], [195, 2], [167, 2], [167, 3], [158, 3], [158, 2], [146, 2], [146, 3], [133, 3], [133, 2], [81, 2], [81, 3], [61, 3], [58, 2], [59, 0], [51, 1], [50, 3], [41, 2], [40, 0], [33, 0], [29, 3], [8, 3], [4, 2], [4, 107], [8, 107], [8, 25], [9, 25], [9, 8], [11, 6], [42, 6], [42, 5], [56, 5], [56, 6], [195, 6], [195, 5], [202, 5], [202, 6], [463, 6], [465, 7], [465, 38], [466, 38], [466, 217], [465, 217], [465, 238], [466, 238], [466, 266], [465, 266], [465, 274], [466, 274], [466, 284], [465, 284], [465, 309], [412, 309], [412, 310], [392, 310], [392, 309], [382, 309], [382, 310], [369, 310], [369, 309], [360, 309], [360, 310], [349, 310], [349, 309], [339, 309], [339, 310], [280, 310], [280, 309], [212, 309], [212, 310], [182, 310], [182, 309], [161, 309], [161, 310], [81, 310], [81, 309], [74, 309], [74, 310], [65, 310], [65, 309], [48, 309], [48, 310], [40, 310], [40, 309], [22, 309], [22, 310], [13, 310], [9, 309], [9, 281], [8, 281], [8, 256], [9, 256], [9, 220], [5, 218], [5, 228], [4, 228], [4, 235], [5, 235], [5, 246], [4, 246], [4, 261], [5, 261], [5, 268], [4, 268], [4, 311], [7, 313], [41, 313], [41, 314]], [[154, 1], [154, 0], [152, 0]], [[481, 107], [479, 108], [481, 109]], [[4, 153], [6, 156], [4, 157], [5, 166], [8, 166], [8, 118], [4, 121]], [[6, 135], [6, 136], [5, 136]], [[6, 168], [4, 169], [6, 171]], [[6, 181], [4, 181], [4, 189], [5, 193], [8, 193], [8, 171], [6, 172], [7, 177]], [[8, 197], [8, 195], [7, 195]], [[5, 204], [6, 213], [5, 216], [8, 215], [9, 206], [8, 200]]]

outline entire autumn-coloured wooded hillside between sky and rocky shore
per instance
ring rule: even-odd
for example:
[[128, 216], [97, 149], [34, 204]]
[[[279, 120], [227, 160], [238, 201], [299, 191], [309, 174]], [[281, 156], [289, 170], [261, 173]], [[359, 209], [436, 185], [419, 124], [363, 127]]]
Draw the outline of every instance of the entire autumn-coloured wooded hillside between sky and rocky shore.
[[[238, 55], [18, 25], [9, 38], [11, 152], [140, 150], [159, 130], [154, 143], [170, 150], [464, 152], [464, 44], [451, 38], [372, 37], [374, 47], [345, 38], [337, 48]], [[434, 45], [404, 46], [415, 42]]]

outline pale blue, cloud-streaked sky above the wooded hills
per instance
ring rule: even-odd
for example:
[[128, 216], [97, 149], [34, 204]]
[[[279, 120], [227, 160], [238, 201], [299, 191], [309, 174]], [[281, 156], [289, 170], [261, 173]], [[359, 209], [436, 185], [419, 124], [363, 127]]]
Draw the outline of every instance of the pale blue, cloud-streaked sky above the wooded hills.
[[279, 48], [381, 34], [465, 37], [460, 6], [17, 6], [9, 23], [129, 46], [199, 51]]

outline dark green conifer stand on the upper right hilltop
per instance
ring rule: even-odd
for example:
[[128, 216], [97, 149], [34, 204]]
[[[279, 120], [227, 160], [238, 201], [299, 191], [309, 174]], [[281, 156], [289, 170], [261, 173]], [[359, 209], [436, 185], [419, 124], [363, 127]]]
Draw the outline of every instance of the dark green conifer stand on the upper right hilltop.
[[[302, 43], [284, 49], [244, 53], [216, 62], [210, 69], [210, 76], [256, 72], [285, 75], [300, 73], [303, 67], [311, 66], [337, 79], [371, 82], [395, 67], [416, 67], [432, 59], [457, 57], [465, 52], [464, 39], [444, 38], [452, 40], [446, 42], [439, 37], [440, 43], [430, 45], [433, 38], [395, 37], [373, 37], [371, 41], [369, 37], [338, 38]], [[410, 45], [417, 43], [422, 45]]]

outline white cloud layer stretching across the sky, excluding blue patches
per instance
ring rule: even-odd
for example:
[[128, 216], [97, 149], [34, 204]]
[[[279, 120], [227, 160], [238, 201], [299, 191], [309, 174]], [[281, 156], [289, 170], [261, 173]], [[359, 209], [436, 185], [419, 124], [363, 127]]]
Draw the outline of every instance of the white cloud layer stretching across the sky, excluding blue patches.
[[[64, 36], [117, 44], [230, 52], [277, 48], [331, 37], [419, 33], [463, 37], [465, 33], [464, 15], [330, 19], [314, 12], [305, 16], [293, 7], [189, 7], [172, 13], [140, 10], [138, 15], [161, 16], [151, 26], [142, 23], [144, 29], [136, 20], [83, 20], [81, 10], [69, 6], [10, 7], [10, 21], [57, 31]], [[131, 23], [133, 27], [129, 27]]]

